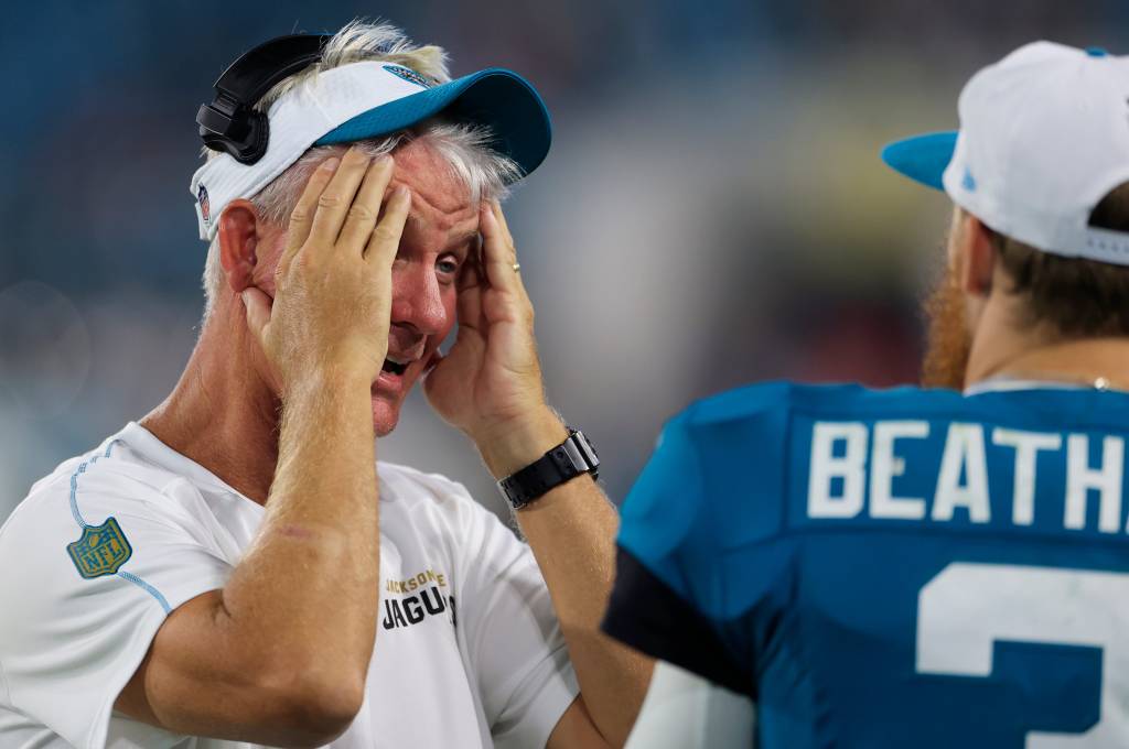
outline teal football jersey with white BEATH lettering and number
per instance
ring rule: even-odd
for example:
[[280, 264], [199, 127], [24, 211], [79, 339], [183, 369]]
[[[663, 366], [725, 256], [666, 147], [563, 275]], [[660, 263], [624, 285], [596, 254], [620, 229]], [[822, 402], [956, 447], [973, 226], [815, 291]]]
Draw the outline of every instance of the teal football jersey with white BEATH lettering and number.
[[763, 749], [1129, 747], [1129, 394], [768, 384], [672, 420], [604, 628]]

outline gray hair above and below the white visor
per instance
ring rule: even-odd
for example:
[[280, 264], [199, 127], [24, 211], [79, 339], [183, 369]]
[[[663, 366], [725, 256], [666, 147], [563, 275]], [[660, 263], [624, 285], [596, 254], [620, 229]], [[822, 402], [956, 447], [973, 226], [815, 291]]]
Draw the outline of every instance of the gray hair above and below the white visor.
[[[355, 20], [333, 35], [326, 43], [322, 60], [309, 68], [278, 82], [255, 105], [266, 112], [287, 91], [307, 83], [317, 73], [353, 62], [391, 62], [410, 68], [418, 73], [434, 78], [440, 83], [450, 80], [447, 71], [447, 53], [435, 45], [418, 46], [395, 26], [369, 24]], [[510, 183], [522, 176], [516, 161], [490, 147], [493, 133], [483, 125], [453, 123], [434, 117], [413, 127], [380, 138], [358, 141], [369, 156], [391, 153], [410, 141], [420, 141], [432, 149], [447, 164], [452, 174], [470, 193], [471, 202], [481, 200], [504, 200]], [[286, 171], [269, 185], [250, 196], [260, 218], [280, 227], [286, 227], [301, 191], [317, 164], [334, 153], [341, 153], [345, 146], [315, 146], [307, 150]], [[204, 149], [209, 159], [219, 156], [217, 151]], [[208, 247], [204, 263], [204, 321], [211, 316], [216, 297], [224, 283], [224, 270], [219, 262], [219, 235]]]

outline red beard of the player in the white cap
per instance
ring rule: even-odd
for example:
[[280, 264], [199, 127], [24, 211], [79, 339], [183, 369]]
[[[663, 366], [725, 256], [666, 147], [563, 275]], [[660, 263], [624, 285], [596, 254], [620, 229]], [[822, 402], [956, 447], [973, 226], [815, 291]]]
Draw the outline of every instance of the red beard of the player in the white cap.
[[964, 318], [964, 294], [952, 271], [945, 271], [944, 277], [929, 294], [925, 314], [929, 333], [921, 363], [921, 385], [963, 390], [972, 338]]

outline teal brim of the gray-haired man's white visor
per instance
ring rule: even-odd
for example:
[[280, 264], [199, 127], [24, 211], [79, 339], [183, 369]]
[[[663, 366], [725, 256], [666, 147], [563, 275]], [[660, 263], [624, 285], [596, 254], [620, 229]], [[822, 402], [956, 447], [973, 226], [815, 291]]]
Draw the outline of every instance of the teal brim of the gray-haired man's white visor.
[[533, 85], [517, 73], [490, 68], [362, 112], [322, 135], [315, 146], [388, 135], [430, 117], [490, 127], [491, 146], [527, 175], [549, 153], [552, 121]]

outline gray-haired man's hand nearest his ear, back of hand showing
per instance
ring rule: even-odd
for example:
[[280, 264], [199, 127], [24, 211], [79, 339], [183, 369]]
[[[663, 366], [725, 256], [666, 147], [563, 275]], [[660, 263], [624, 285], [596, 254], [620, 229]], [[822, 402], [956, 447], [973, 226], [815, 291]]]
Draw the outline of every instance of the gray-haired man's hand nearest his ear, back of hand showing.
[[310, 374], [371, 382], [384, 364], [392, 262], [411, 206], [399, 187], [377, 221], [393, 166], [391, 156], [374, 160], [357, 148], [323, 161], [290, 214], [273, 305], [259, 289], [243, 292], [247, 325], [283, 396]]

